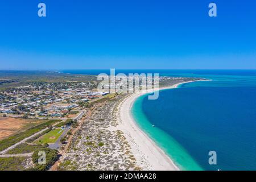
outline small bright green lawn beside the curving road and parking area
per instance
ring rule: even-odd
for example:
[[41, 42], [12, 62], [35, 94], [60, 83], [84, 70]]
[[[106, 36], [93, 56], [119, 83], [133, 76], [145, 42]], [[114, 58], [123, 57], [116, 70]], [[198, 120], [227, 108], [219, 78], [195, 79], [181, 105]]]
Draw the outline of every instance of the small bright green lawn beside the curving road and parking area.
[[40, 137], [39, 139], [37, 139], [35, 143], [37, 144], [55, 143], [62, 133], [63, 133], [63, 130], [61, 129], [52, 130], [47, 134], [43, 135], [42, 137]]

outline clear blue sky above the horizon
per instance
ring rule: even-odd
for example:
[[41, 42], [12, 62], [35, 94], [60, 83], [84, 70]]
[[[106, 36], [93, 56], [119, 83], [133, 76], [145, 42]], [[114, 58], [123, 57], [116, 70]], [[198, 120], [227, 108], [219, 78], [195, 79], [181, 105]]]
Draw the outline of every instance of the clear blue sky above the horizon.
[[[38, 17], [40, 2], [46, 18]], [[210, 2], [216, 18], [208, 16]], [[0, 69], [256, 69], [256, 1], [1, 1], [0, 63]]]

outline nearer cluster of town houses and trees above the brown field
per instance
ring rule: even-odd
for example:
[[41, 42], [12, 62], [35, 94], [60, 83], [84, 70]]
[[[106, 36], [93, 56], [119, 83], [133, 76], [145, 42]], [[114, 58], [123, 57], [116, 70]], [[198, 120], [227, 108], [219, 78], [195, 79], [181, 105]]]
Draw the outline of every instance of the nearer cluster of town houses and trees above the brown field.
[[[61, 89], [65, 88], [65, 89]], [[65, 117], [73, 109], [81, 109], [86, 102], [107, 92], [92, 92], [93, 85], [79, 84], [32, 84], [12, 88], [0, 96], [0, 112], [23, 117]]]

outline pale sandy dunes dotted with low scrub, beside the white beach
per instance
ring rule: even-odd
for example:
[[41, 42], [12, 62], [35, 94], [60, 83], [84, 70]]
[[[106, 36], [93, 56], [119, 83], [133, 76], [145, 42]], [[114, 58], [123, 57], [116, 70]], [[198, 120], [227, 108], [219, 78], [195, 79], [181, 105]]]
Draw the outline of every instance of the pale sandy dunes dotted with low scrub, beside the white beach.
[[108, 100], [105, 98], [104, 102], [93, 103], [97, 109], [92, 110], [92, 116], [73, 136], [67, 149], [69, 155], [63, 155], [58, 170], [140, 169], [122, 131], [108, 130], [108, 127], [117, 125], [117, 118], [112, 113], [123, 97], [114, 94]]

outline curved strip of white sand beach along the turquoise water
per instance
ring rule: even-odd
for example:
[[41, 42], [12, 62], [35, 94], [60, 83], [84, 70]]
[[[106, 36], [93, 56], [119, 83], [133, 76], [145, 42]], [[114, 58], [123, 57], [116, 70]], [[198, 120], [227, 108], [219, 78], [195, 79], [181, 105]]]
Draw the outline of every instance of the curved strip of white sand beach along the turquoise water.
[[[210, 81], [210, 80], [196, 80], [196, 81]], [[181, 84], [185, 84], [187, 81], [180, 82], [168, 87], [158, 88], [151, 90], [147, 93], [134, 93], [126, 97], [125, 100], [119, 105], [119, 129], [122, 130], [127, 138], [131, 151], [135, 159], [137, 159], [138, 165], [143, 170], [163, 170], [163, 171], [178, 171], [180, 170], [176, 164], [141, 128], [131, 114], [131, 107], [138, 97], [154, 92], [156, 90], [173, 89], [177, 88]]]

